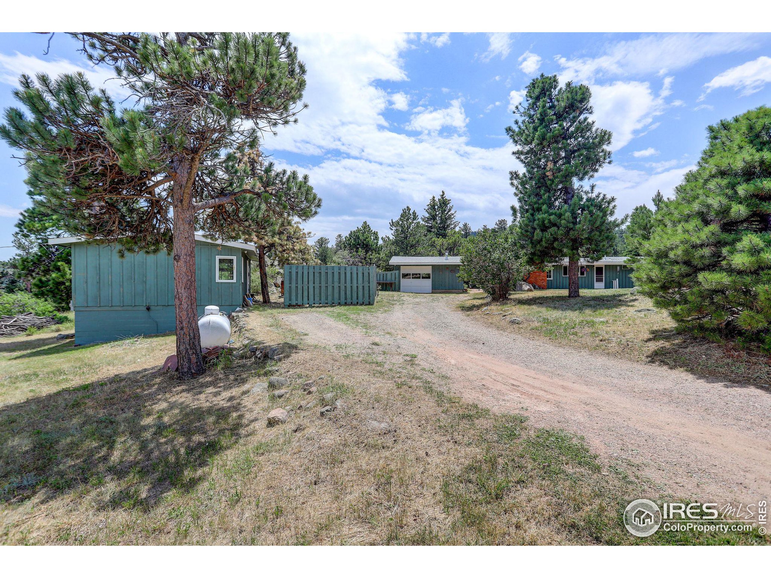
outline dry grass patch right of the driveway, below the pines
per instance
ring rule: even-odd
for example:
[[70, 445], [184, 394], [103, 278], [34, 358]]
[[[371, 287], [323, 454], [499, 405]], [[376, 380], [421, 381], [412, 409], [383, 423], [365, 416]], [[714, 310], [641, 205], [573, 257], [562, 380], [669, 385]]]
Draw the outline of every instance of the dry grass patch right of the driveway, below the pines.
[[[682, 334], [665, 311], [656, 310], [648, 297], [632, 295], [628, 289], [581, 291], [577, 299], [568, 299], [563, 290], [513, 293], [499, 303], [476, 292], [460, 308], [497, 328], [529, 338], [631, 361], [654, 361], [708, 378], [771, 384], [768, 356]], [[513, 324], [510, 318], [522, 322]]]

